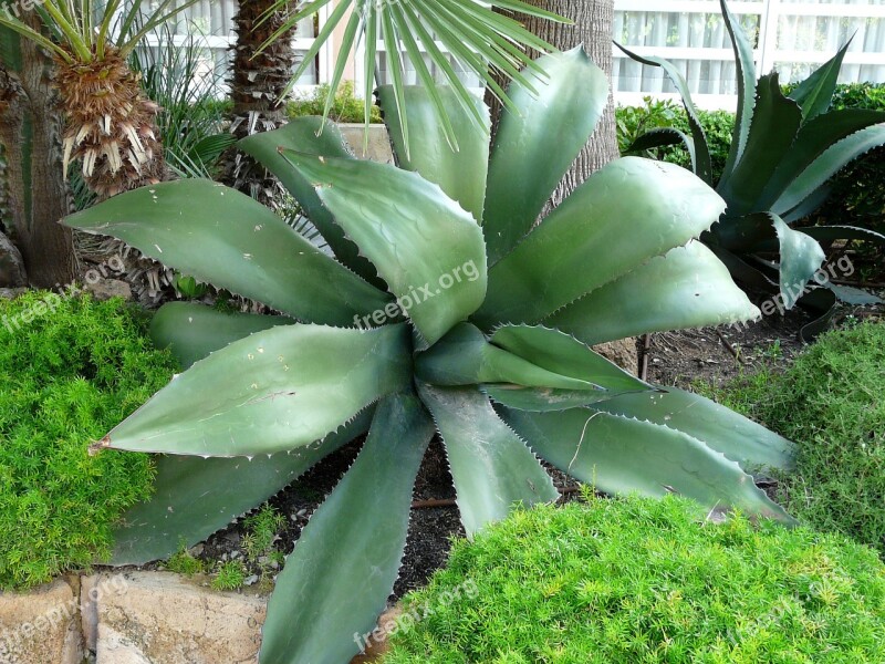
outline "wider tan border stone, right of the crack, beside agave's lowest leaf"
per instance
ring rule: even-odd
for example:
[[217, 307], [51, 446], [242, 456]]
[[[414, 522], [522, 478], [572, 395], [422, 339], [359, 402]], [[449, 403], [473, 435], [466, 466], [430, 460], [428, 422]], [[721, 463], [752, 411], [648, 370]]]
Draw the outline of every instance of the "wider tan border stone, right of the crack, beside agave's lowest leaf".
[[216, 592], [170, 573], [123, 579], [125, 591], [96, 601], [96, 664], [258, 662], [267, 598]]

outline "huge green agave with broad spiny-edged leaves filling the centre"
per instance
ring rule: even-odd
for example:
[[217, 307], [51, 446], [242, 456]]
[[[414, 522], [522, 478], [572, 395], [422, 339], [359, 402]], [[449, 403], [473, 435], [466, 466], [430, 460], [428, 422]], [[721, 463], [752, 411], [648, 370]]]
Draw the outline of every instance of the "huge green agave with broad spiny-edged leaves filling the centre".
[[396, 580], [435, 435], [468, 536], [514, 505], [558, 499], [539, 456], [603, 491], [678, 492], [791, 522], [750, 475], [788, 468], [788, 440], [591, 347], [758, 315], [695, 239], [725, 203], [686, 169], [628, 157], [537, 224], [608, 96], [582, 49], [538, 64], [545, 85], [537, 96], [511, 85], [518, 112], [493, 149], [488, 108], [476, 101], [477, 126], [446, 87], [436, 101], [407, 87], [403, 106], [379, 91], [396, 166], [355, 159], [319, 117], [243, 139], [334, 258], [208, 180], [144, 187], [66, 220], [283, 314], [183, 302], [156, 314], [154, 339], [188, 369], [95, 446], [163, 455], [113, 562], [201, 541], [367, 432], [277, 579], [263, 664], [342, 664], [358, 651], [354, 635], [374, 627]]

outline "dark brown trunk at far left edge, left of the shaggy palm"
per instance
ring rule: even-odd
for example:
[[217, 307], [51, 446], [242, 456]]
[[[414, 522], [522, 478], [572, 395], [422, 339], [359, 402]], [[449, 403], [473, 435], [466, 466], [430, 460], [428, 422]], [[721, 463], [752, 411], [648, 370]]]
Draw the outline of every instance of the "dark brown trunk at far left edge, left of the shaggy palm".
[[[39, 25], [33, 12], [24, 14]], [[31, 41], [0, 31], [0, 210], [32, 286], [53, 288], [76, 273], [73, 237], [59, 220], [71, 211], [62, 170], [62, 117], [51, 60]]]

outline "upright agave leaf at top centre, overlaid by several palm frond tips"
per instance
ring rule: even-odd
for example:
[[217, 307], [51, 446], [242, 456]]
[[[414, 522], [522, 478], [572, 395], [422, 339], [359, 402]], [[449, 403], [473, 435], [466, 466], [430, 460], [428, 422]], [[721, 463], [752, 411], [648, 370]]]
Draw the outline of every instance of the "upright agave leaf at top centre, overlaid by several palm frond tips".
[[424, 179], [439, 185], [449, 198], [458, 201], [480, 222], [489, 169], [489, 110], [481, 101], [473, 101], [477, 113], [482, 118], [482, 123], [478, 124], [450, 89], [442, 86], [438, 94], [447, 115], [454, 121], [454, 131], [458, 138], [457, 151], [449, 145], [446, 132], [439, 124], [439, 115], [424, 87], [409, 85], [405, 89], [408, 143], [403, 132], [393, 86], [383, 85], [378, 89], [378, 104], [384, 112], [384, 122], [391, 135], [397, 165], [405, 170], [417, 172]]

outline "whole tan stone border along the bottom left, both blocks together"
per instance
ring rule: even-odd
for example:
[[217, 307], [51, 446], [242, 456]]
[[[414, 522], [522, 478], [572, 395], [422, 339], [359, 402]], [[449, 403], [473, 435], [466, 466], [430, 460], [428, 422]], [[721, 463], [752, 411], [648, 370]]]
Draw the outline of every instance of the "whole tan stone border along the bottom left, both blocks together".
[[59, 579], [0, 593], [0, 664], [254, 664], [267, 602], [169, 572]]

